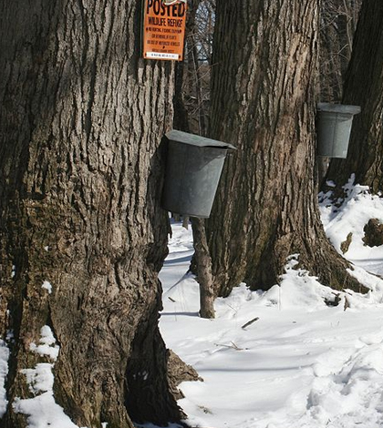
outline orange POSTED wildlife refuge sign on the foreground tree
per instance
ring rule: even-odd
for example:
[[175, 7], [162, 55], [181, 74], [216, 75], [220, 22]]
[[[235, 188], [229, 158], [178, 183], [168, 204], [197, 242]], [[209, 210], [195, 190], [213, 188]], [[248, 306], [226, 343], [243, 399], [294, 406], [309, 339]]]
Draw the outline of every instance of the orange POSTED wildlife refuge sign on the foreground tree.
[[143, 57], [181, 61], [185, 24], [186, 3], [144, 0]]

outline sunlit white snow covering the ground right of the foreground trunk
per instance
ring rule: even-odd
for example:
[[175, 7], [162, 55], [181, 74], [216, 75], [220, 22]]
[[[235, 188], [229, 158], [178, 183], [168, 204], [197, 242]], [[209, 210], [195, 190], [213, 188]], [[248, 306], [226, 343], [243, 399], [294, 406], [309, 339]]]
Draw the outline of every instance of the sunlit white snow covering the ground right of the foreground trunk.
[[[352, 233], [345, 256], [383, 273], [383, 246], [362, 241], [368, 219], [383, 222], [383, 200], [347, 187], [341, 209], [322, 195], [322, 218], [336, 249]], [[244, 284], [215, 304], [216, 319], [198, 317], [198, 284], [187, 274], [191, 231], [172, 225], [170, 255], [160, 272], [160, 330], [167, 346], [204, 382], [184, 382], [179, 402], [188, 423], [203, 428], [383, 427], [383, 280], [357, 268], [371, 291], [342, 293], [286, 260], [280, 286], [250, 291]], [[345, 311], [345, 301], [347, 310]], [[248, 327], [243, 325], [258, 318]]]

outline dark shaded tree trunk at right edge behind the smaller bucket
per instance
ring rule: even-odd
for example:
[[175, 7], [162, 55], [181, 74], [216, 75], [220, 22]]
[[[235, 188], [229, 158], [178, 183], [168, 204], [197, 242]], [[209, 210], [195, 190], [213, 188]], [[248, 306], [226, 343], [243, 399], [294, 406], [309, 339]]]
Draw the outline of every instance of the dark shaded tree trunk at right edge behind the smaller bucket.
[[362, 4], [347, 70], [344, 104], [362, 107], [354, 117], [347, 159], [334, 159], [328, 178], [340, 186], [352, 173], [356, 183], [383, 189], [383, 3]]

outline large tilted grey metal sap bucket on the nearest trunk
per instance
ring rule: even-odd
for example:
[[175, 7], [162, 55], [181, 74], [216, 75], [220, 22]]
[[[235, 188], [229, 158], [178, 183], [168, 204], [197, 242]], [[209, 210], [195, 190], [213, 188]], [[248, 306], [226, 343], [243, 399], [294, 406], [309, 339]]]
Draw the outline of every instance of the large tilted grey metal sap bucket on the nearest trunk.
[[171, 130], [162, 208], [173, 213], [206, 219], [231, 144]]

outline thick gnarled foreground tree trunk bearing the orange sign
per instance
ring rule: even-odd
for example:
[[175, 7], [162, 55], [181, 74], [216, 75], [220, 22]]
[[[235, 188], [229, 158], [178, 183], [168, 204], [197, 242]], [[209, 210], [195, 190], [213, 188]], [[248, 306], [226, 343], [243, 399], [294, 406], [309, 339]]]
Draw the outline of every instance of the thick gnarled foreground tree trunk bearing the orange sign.
[[140, 14], [115, 0], [0, 5], [4, 428], [26, 426], [13, 404], [31, 396], [21, 371], [46, 361], [31, 348], [44, 326], [60, 346], [56, 402], [78, 426], [181, 416], [158, 329], [174, 76], [139, 59]]

